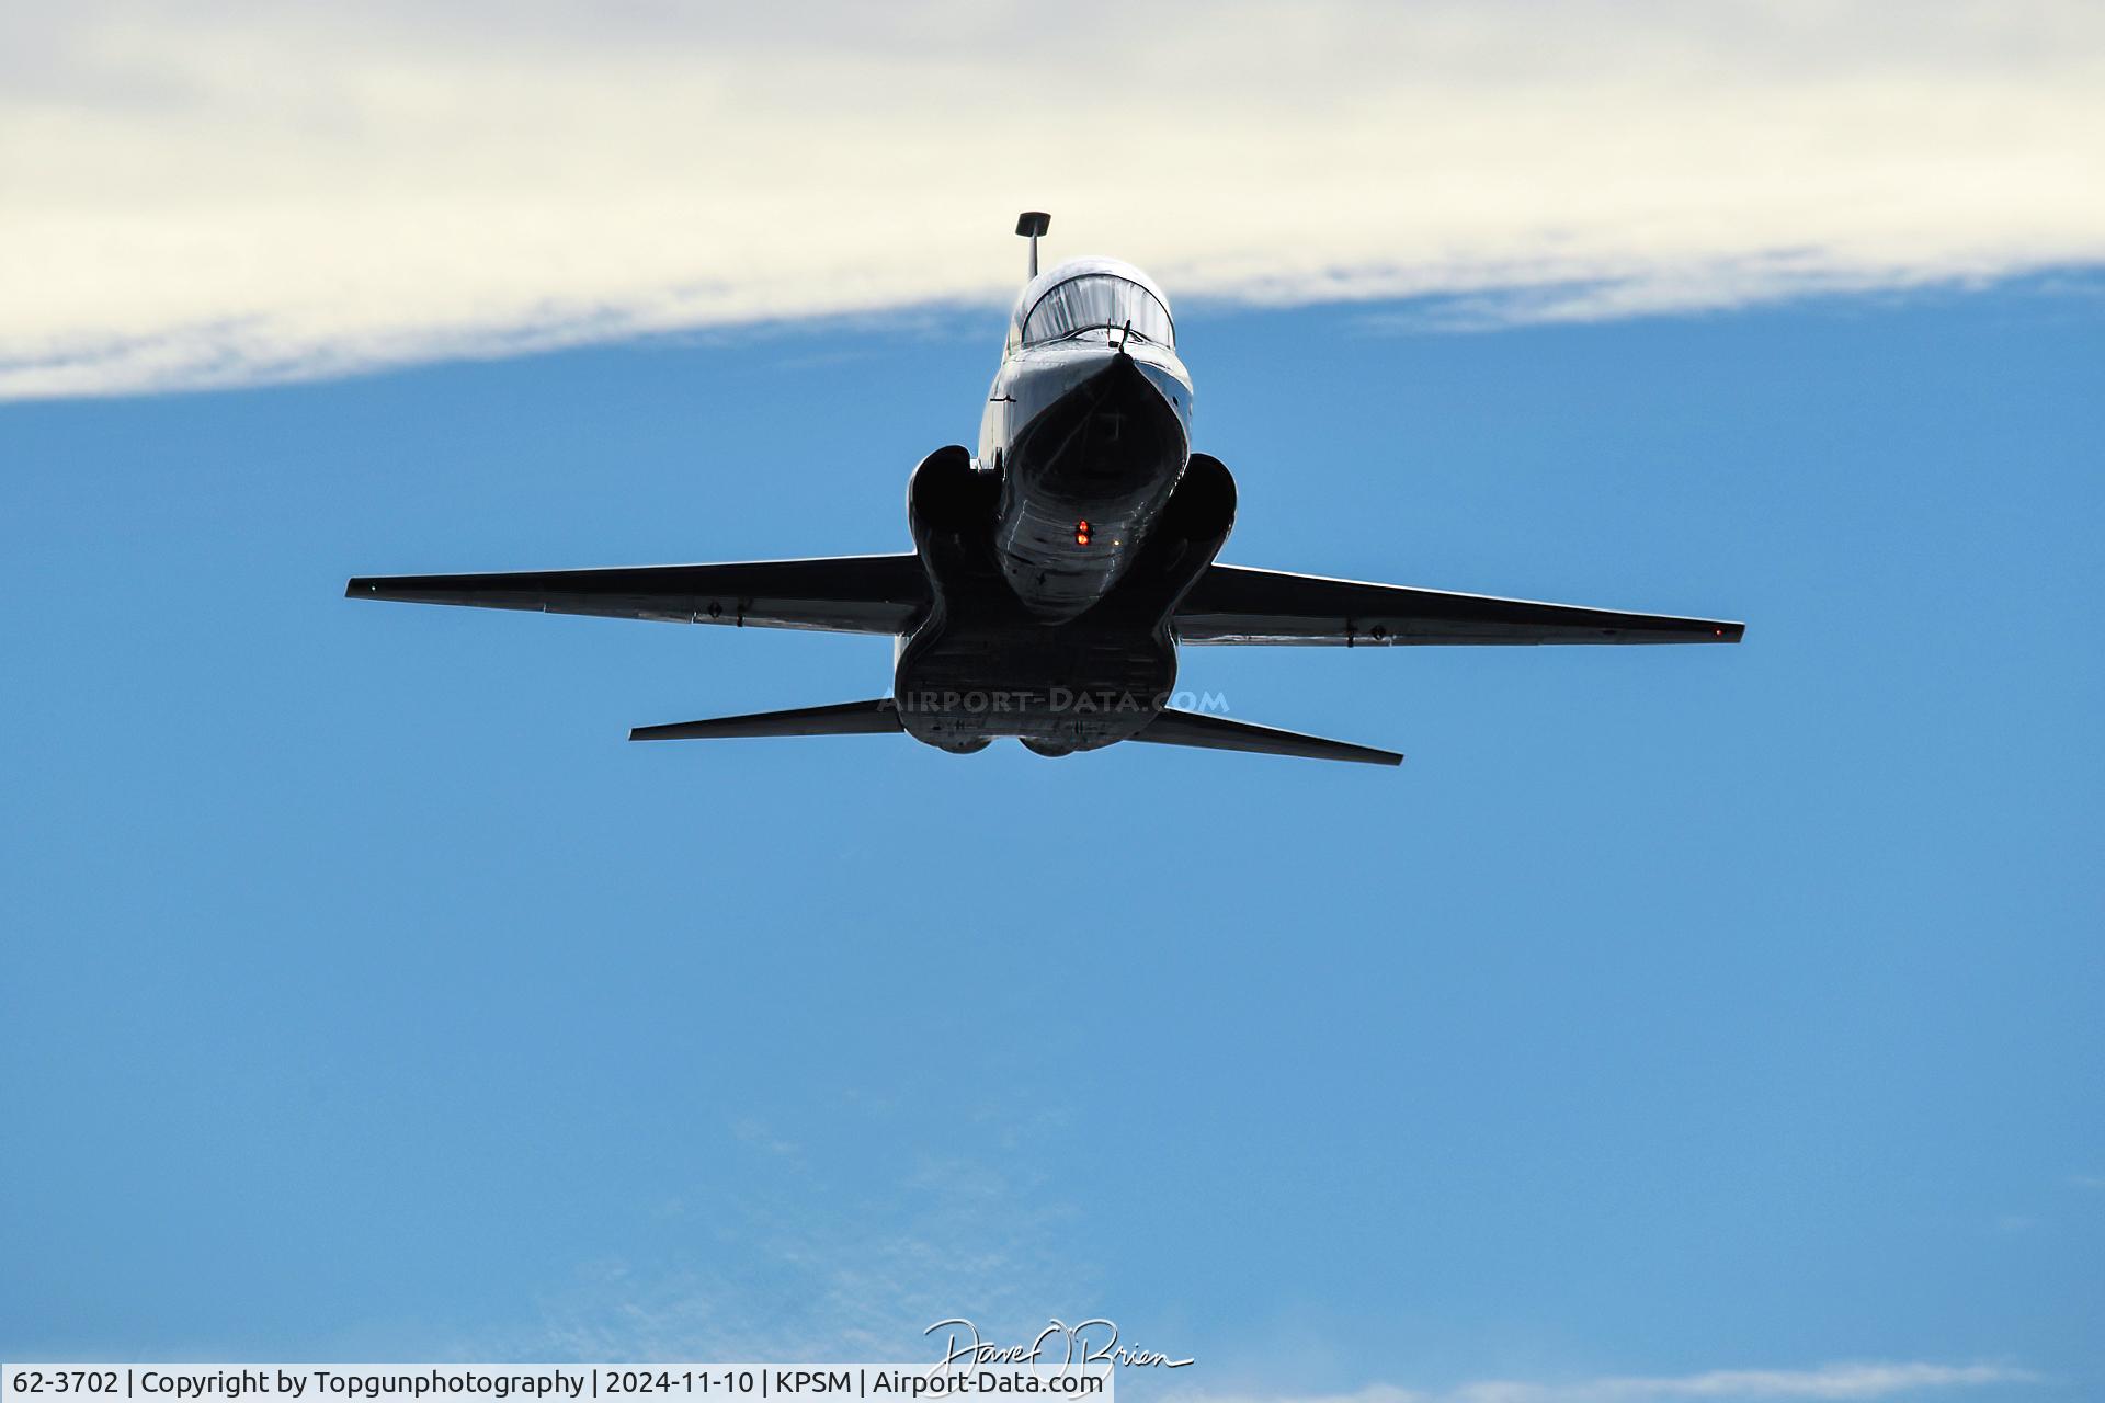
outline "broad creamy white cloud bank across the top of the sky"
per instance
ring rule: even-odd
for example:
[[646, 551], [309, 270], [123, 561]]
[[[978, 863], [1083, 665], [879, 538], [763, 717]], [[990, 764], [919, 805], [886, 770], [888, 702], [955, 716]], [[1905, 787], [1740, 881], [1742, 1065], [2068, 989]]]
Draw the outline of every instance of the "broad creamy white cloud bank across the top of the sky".
[[29, 0], [0, 395], [996, 305], [1025, 206], [1172, 294], [1507, 320], [2105, 261], [2101, 187], [2086, 0]]

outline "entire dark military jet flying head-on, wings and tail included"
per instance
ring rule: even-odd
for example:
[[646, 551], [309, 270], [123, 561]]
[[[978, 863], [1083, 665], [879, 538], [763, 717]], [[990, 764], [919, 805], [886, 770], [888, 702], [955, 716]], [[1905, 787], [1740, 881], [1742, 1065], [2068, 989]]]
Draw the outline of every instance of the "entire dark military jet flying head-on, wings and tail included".
[[890, 696], [642, 726], [632, 740], [897, 734], [1038, 755], [1120, 740], [1394, 766], [1394, 751], [1168, 705], [1185, 644], [1737, 644], [1716, 618], [1495, 599], [1217, 564], [1236, 480], [1191, 452], [1168, 297], [1116, 259], [1038, 271], [1008, 320], [979, 452], [907, 482], [914, 551], [522, 574], [354, 578], [354, 599], [890, 633]]

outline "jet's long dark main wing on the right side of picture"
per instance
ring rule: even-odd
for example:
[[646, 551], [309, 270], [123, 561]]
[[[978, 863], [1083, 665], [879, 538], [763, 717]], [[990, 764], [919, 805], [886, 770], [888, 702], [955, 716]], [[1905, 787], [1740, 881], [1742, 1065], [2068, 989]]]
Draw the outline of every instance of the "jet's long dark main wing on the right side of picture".
[[1177, 606], [1185, 644], [1737, 644], [1745, 625], [1623, 614], [1320, 574], [1208, 566]]

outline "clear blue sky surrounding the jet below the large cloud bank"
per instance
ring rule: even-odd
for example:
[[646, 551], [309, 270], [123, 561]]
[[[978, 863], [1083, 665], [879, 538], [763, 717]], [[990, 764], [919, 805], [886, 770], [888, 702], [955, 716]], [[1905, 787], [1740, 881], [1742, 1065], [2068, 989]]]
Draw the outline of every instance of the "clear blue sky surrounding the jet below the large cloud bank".
[[888, 648], [339, 597], [905, 549], [994, 313], [0, 406], [0, 1357], [2094, 1397], [2101, 307], [1187, 307], [1227, 560], [1749, 621], [1185, 652], [1400, 772], [629, 747]]

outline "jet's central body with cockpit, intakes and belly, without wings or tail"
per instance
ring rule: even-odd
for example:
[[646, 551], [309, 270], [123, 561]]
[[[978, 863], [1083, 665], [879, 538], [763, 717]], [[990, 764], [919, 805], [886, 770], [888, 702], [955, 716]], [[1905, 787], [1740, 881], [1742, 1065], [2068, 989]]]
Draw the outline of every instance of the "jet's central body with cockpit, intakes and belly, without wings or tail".
[[1227, 538], [1234, 482], [1191, 454], [1191, 377], [1145, 273], [1076, 259], [1025, 284], [979, 454], [930, 454], [907, 501], [933, 604], [895, 665], [905, 730], [1065, 755], [1162, 711], [1170, 616]]

